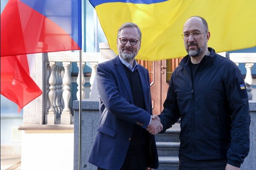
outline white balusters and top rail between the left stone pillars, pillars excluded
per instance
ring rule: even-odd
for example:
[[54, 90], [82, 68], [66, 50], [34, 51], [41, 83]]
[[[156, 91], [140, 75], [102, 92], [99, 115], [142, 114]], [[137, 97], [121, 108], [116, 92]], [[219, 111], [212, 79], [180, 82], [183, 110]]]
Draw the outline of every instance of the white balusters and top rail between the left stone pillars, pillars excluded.
[[[79, 68], [79, 53], [64, 51], [64, 52], [54, 52], [48, 53], [48, 65], [47, 73], [48, 77], [48, 88], [47, 88], [47, 124], [54, 125], [56, 124], [56, 114], [61, 115], [61, 124], [71, 124], [72, 114], [69, 108], [70, 102], [70, 83], [71, 83], [71, 73], [69, 71], [70, 65], [72, 62], [77, 63], [77, 67]], [[84, 69], [84, 65], [86, 62], [90, 62], [90, 67], [92, 69], [92, 74], [90, 77], [90, 85], [92, 87], [96, 67], [100, 59], [99, 53], [82, 53], [82, 61], [81, 61], [81, 69]], [[78, 91], [76, 92], [77, 99], [79, 100], [80, 93], [80, 79], [79, 76], [81, 71], [79, 70], [79, 74], [77, 77]], [[81, 94], [82, 99], [84, 99], [84, 83], [85, 79], [82, 76], [81, 82]], [[63, 87], [63, 90], [62, 90]]]

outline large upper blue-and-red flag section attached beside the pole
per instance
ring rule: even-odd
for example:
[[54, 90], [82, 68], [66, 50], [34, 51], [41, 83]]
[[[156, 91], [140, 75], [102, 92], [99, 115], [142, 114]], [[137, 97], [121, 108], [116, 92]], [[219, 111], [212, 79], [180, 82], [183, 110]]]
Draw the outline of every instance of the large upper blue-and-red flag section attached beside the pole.
[[80, 0], [9, 0], [1, 14], [1, 57], [80, 50], [79, 3]]

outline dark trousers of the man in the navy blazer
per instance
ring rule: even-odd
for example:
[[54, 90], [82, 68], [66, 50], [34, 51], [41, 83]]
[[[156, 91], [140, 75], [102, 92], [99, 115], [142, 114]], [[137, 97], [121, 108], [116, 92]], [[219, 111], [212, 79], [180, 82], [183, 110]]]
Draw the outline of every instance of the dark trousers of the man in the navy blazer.
[[[127, 154], [120, 170], [146, 170], [147, 160], [145, 154]], [[98, 167], [98, 170], [105, 170]]]

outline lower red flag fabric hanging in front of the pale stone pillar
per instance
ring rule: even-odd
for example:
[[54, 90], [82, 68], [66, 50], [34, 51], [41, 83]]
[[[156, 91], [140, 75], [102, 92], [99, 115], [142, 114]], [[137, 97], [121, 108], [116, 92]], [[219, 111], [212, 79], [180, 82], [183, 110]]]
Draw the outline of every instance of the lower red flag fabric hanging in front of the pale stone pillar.
[[1, 57], [1, 94], [19, 106], [19, 110], [42, 94], [29, 76], [27, 56]]

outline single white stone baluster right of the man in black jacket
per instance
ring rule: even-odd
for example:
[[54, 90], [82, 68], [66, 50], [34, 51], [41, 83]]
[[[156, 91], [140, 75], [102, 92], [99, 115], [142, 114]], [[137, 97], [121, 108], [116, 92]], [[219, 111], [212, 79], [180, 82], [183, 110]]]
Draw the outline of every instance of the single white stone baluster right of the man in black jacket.
[[245, 63], [245, 68], [246, 68], [246, 76], [244, 79], [247, 93], [248, 93], [248, 99], [252, 100], [253, 99], [253, 94], [252, 94], [252, 85], [253, 85], [253, 77], [252, 77], [252, 68], [253, 68], [253, 63]]

